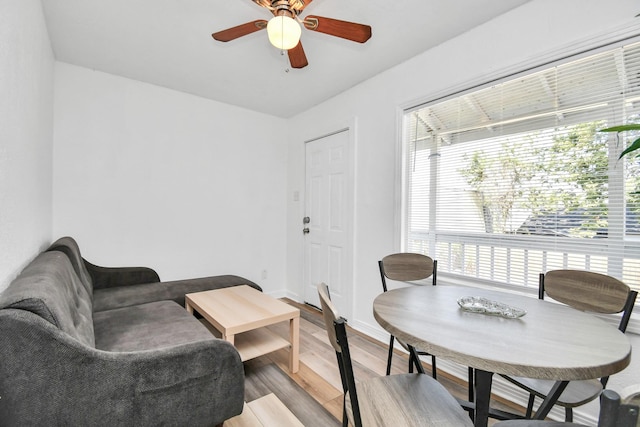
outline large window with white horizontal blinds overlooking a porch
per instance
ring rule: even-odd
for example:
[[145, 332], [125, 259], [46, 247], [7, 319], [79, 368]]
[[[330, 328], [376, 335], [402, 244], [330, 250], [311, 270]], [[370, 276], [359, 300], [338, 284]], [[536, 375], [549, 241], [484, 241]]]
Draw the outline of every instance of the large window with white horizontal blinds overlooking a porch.
[[403, 245], [441, 273], [537, 287], [574, 268], [640, 290], [640, 43], [407, 110]]

